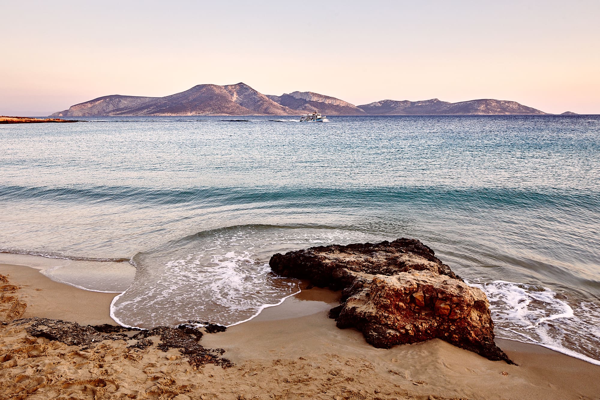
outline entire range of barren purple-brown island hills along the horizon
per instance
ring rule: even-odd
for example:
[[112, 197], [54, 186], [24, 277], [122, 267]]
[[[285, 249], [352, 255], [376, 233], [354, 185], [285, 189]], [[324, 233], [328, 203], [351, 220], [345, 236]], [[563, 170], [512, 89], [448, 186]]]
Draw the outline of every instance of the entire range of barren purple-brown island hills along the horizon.
[[301, 115], [318, 111], [325, 115], [545, 115], [538, 109], [507, 100], [482, 98], [449, 103], [437, 98], [410, 102], [381, 100], [355, 106], [339, 98], [291, 92], [262, 94], [245, 83], [197, 85], [165, 97], [107, 95], [55, 112], [50, 117], [100, 117], [139, 115]]

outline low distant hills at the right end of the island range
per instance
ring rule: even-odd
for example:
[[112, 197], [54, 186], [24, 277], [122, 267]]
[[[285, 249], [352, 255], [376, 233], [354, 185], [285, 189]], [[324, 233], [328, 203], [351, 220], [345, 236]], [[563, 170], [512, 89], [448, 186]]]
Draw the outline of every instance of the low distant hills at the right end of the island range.
[[437, 98], [409, 102], [382, 100], [358, 106], [369, 115], [544, 115], [543, 111], [517, 102], [482, 98], [468, 102], [448, 103]]

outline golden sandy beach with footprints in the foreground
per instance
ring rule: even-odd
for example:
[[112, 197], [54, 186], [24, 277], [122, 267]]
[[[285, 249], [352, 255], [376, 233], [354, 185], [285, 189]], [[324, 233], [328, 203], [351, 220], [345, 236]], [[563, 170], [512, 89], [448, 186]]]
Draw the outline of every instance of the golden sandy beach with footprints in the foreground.
[[[206, 333], [233, 366], [194, 368], [176, 349], [91, 347], [30, 335], [13, 319], [114, 321], [115, 294], [50, 280], [23, 265], [0, 264], [1, 399], [597, 399], [600, 366], [535, 345], [498, 340], [518, 366], [492, 362], [433, 340], [390, 350], [368, 345], [327, 317], [337, 293], [307, 289], [259, 317]], [[157, 338], [153, 338], [157, 341]]]

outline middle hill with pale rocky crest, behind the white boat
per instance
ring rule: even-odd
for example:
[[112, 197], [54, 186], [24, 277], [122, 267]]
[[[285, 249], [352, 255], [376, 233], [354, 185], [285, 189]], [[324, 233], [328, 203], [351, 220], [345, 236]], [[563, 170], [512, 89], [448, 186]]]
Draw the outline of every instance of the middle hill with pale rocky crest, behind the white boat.
[[291, 92], [280, 96], [268, 95], [274, 102], [307, 112], [318, 111], [325, 115], [365, 115], [366, 113], [353, 104], [339, 98], [314, 92]]

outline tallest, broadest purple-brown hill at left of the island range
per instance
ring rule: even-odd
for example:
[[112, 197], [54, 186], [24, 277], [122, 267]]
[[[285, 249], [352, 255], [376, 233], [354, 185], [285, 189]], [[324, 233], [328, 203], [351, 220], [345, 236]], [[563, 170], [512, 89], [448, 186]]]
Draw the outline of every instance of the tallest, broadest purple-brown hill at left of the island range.
[[110, 95], [71, 106], [57, 117], [101, 115], [295, 115], [245, 83], [197, 85], [165, 97]]

